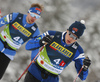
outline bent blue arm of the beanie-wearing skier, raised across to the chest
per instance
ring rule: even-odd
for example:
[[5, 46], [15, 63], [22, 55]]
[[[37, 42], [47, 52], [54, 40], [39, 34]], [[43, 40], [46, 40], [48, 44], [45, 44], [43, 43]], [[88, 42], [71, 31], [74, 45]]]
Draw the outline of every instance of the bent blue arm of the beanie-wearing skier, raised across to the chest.
[[[53, 36], [56, 31], [47, 31], [42, 35], [36, 36], [33, 39], [29, 40], [25, 46], [26, 50], [35, 50], [43, 46], [42, 41], [51, 42], [51, 38], [49, 36]], [[47, 36], [49, 35], [49, 36]]]

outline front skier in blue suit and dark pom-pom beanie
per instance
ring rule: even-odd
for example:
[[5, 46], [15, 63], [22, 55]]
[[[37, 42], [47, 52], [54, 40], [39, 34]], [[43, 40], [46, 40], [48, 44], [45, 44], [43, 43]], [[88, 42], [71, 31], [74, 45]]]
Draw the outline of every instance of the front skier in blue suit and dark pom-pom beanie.
[[77, 43], [85, 28], [82, 21], [76, 21], [65, 32], [47, 31], [28, 41], [26, 49], [32, 50], [31, 60], [37, 55], [39, 47], [48, 44], [29, 67], [24, 82], [59, 82], [58, 75], [72, 61], [75, 62], [77, 73], [84, 65], [79, 78], [85, 80], [91, 60], [85, 58], [82, 47]]

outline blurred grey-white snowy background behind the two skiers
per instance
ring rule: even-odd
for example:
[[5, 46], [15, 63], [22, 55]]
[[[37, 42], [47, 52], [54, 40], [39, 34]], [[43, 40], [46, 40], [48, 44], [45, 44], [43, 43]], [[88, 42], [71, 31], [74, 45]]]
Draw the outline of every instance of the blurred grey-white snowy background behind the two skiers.
[[[66, 31], [76, 20], [85, 20], [87, 29], [78, 42], [92, 64], [89, 75], [83, 82], [100, 82], [100, 0], [0, 0], [3, 16], [20, 12], [27, 14], [32, 3], [44, 5], [41, 18], [36, 21], [41, 33], [46, 30]], [[0, 28], [2, 31], [4, 27]], [[31, 52], [25, 44], [17, 51], [0, 82], [15, 82], [30, 63]], [[73, 82], [77, 73], [72, 62], [60, 75], [59, 82]], [[23, 82], [24, 76], [19, 82]], [[82, 82], [79, 78], [76, 82]]]

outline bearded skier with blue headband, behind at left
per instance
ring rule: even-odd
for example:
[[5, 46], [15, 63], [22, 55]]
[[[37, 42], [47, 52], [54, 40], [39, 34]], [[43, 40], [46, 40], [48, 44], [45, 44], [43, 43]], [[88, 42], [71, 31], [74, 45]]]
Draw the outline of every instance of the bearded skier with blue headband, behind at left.
[[0, 79], [13, 60], [16, 50], [30, 38], [40, 34], [35, 21], [40, 18], [42, 10], [42, 5], [33, 3], [27, 15], [13, 12], [0, 19], [0, 27], [6, 25], [0, 33]]

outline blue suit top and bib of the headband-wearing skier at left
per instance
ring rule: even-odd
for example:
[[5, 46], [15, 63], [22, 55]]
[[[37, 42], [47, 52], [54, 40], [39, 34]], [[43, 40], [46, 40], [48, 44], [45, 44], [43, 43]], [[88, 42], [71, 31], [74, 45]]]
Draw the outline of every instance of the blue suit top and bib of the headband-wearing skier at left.
[[13, 60], [16, 50], [22, 44], [40, 34], [36, 23], [28, 24], [26, 22], [26, 16], [25, 14], [14, 12], [0, 19], [0, 27], [6, 25], [0, 33], [0, 52], [11, 60]]

